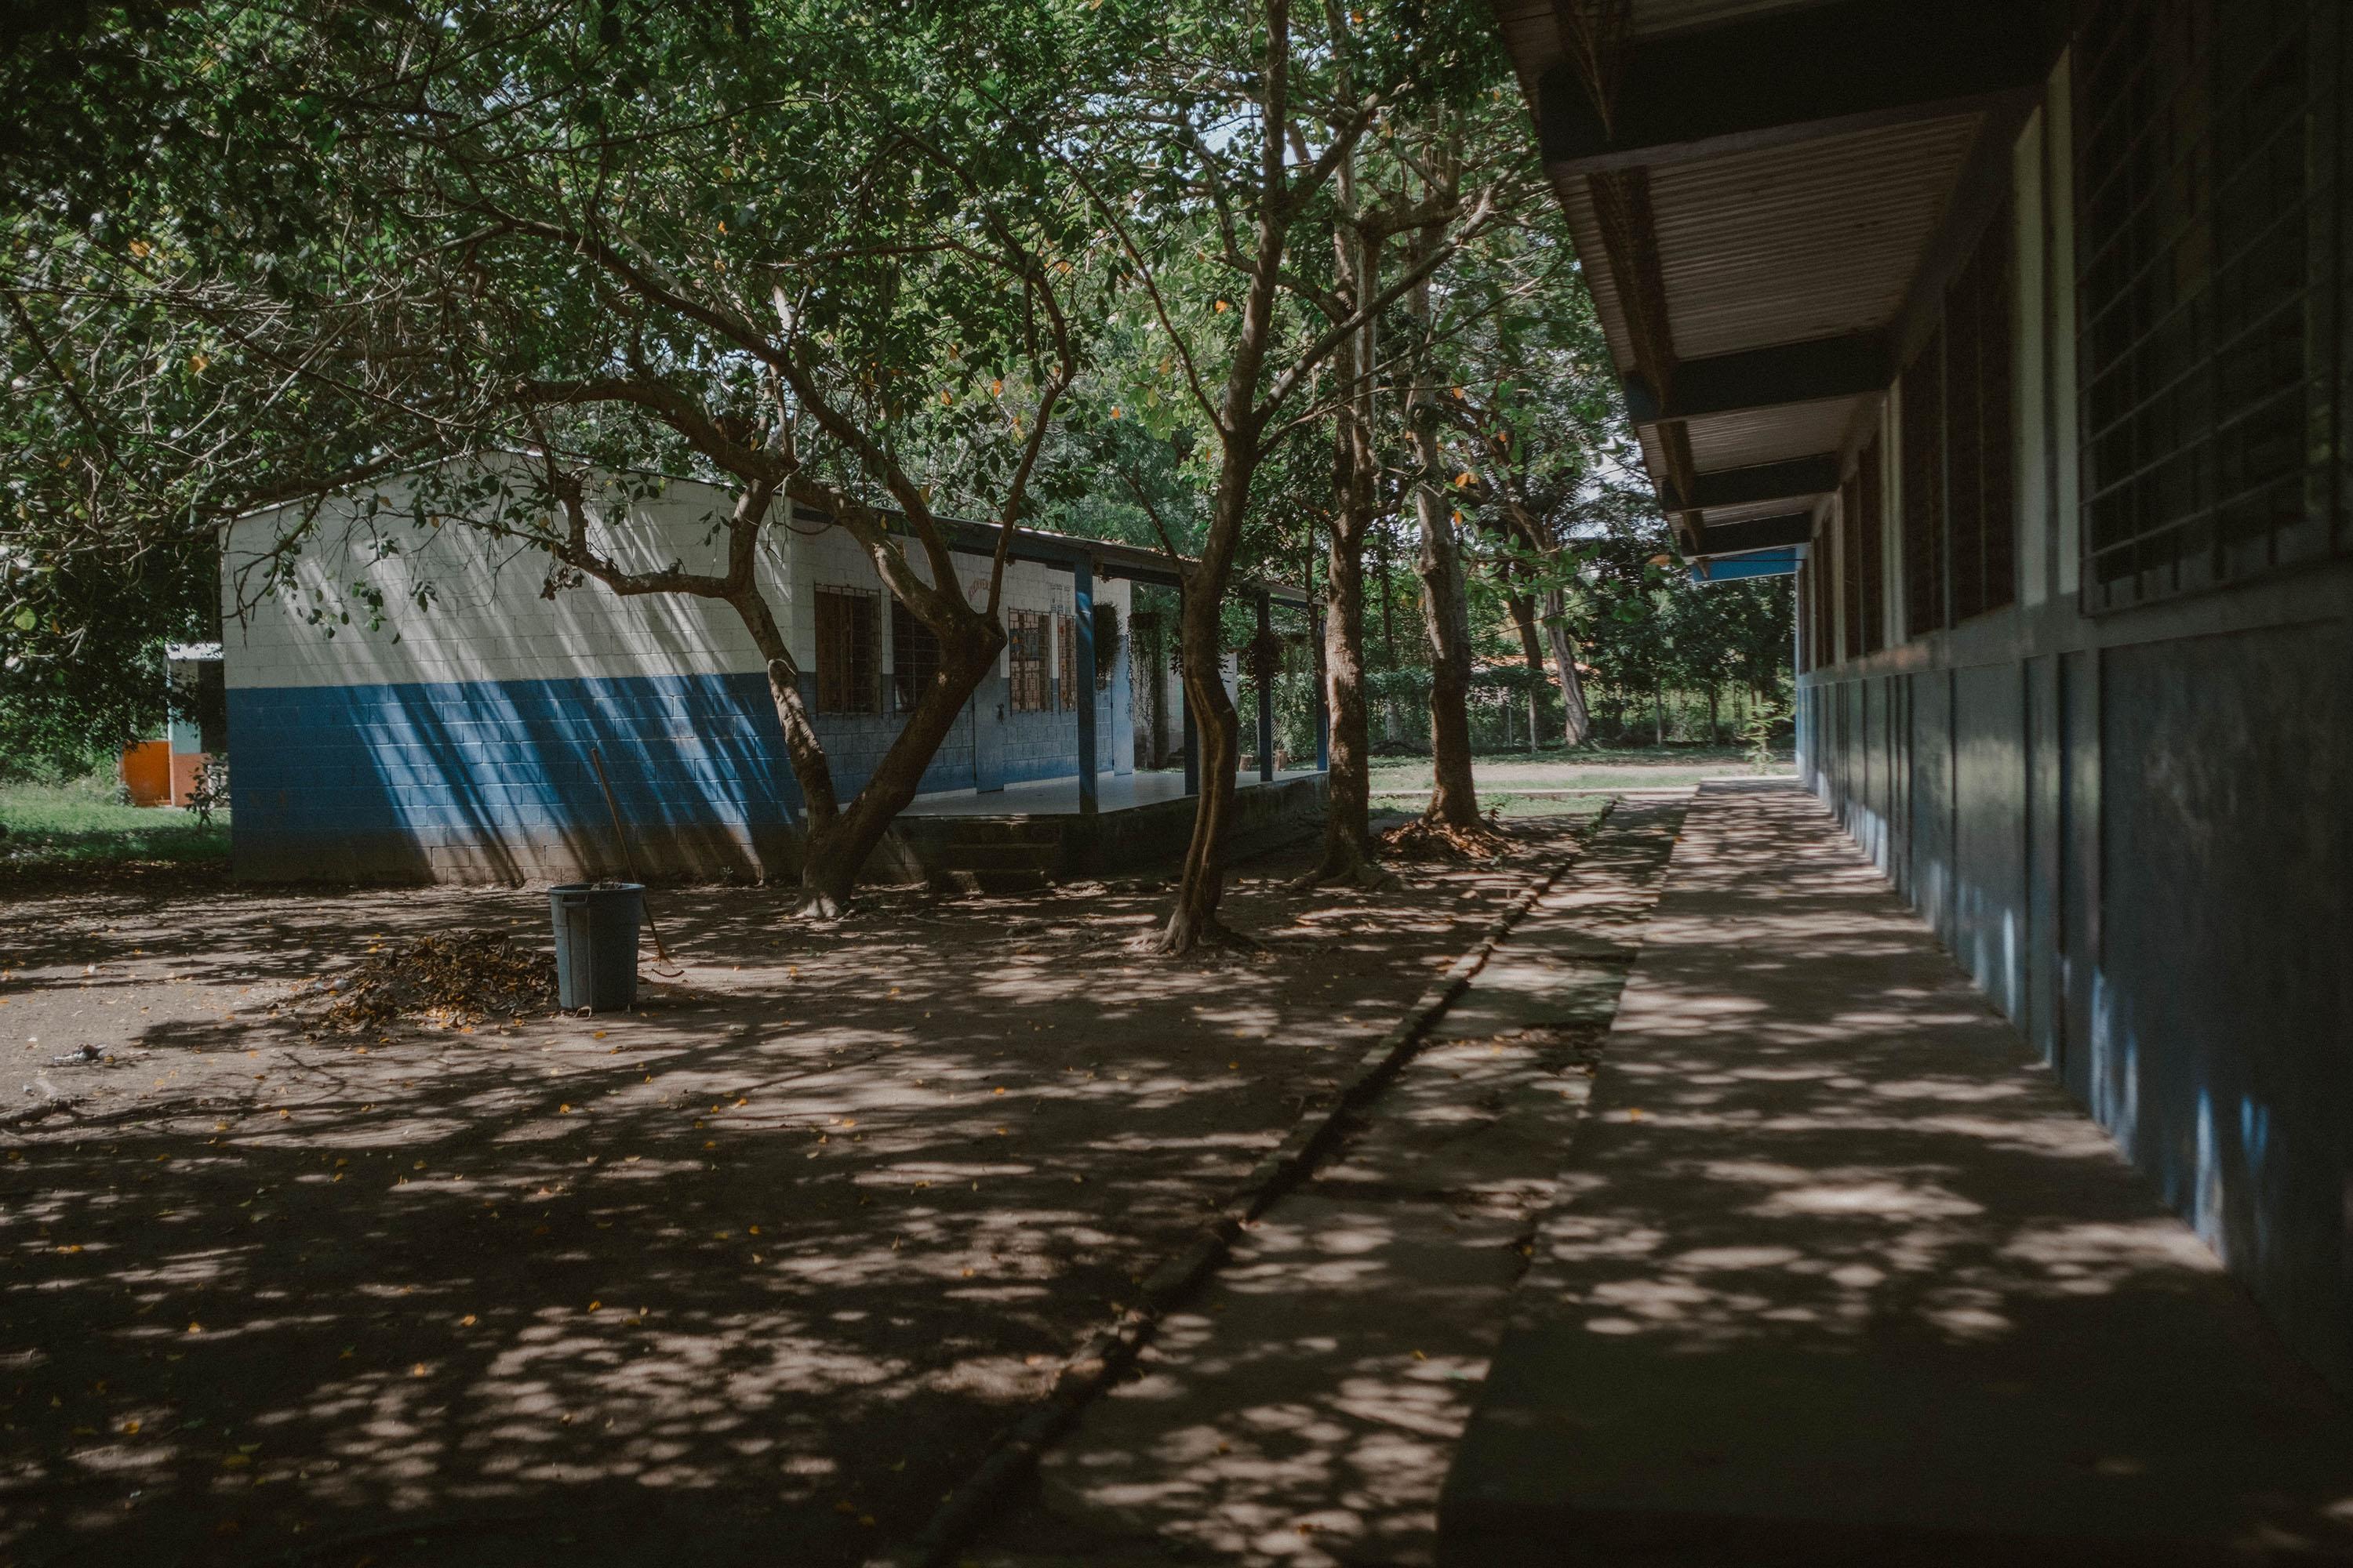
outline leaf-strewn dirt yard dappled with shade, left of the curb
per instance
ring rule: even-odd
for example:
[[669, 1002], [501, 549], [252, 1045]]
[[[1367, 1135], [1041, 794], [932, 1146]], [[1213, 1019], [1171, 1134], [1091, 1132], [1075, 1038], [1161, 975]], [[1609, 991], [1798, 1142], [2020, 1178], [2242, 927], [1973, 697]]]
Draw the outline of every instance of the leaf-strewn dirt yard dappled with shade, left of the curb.
[[0, 1566], [856, 1563], [1581, 825], [1254, 860], [1198, 964], [1148, 889], [659, 891], [635, 1013], [358, 1037], [546, 896], [0, 886]]

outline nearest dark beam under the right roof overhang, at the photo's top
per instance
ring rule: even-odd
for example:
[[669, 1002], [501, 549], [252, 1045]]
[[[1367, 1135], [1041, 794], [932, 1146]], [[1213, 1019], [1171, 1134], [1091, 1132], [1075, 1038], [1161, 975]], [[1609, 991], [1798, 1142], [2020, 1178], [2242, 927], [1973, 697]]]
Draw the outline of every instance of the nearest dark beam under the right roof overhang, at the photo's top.
[[1537, 85], [1546, 162], [1577, 174], [1927, 120], [2028, 92], [2057, 59], [2047, 0], [1833, 0], [1631, 38], [1607, 113], [1584, 73]]

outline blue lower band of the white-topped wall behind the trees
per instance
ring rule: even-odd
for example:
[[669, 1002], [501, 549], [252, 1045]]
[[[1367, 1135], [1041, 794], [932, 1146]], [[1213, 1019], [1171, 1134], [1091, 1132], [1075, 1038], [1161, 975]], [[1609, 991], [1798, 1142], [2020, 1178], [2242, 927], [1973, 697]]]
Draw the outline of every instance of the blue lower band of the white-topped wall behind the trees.
[[[1061, 724], [1052, 729], [1071, 731], [1059, 759], [1047, 757], [1056, 736], [1040, 733], [1019, 748], [1016, 778], [1078, 771], [1075, 722], [1054, 717]], [[591, 745], [640, 875], [755, 879], [793, 875], [800, 863], [800, 788], [762, 675], [240, 686], [228, 691], [228, 724], [235, 867], [247, 879], [616, 872]], [[819, 715], [816, 729], [847, 797], [873, 776], [899, 719]], [[972, 745], [967, 708], [922, 788], [969, 790]]]

